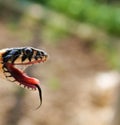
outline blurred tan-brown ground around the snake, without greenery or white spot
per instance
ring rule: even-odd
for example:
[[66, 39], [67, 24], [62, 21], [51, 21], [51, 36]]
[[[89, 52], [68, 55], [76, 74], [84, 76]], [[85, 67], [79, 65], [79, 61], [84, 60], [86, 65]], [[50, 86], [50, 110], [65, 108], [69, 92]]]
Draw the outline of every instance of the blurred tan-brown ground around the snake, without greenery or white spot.
[[[10, 32], [3, 22], [0, 23], [1, 49], [30, 45], [30, 42], [20, 37], [19, 34]], [[96, 74], [109, 70], [105, 58], [80, 41], [76, 36], [70, 36], [61, 39], [56, 45], [44, 42], [42, 46], [38, 44], [37, 48], [45, 49], [49, 59], [32, 68], [33, 75], [41, 81], [43, 91], [43, 104], [37, 111], [34, 110], [38, 104], [37, 92], [26, 90], [24, 95], [16, 96], [19, 94], [16, 93], [18, 89], [21, 93], [23, 89], [1, 79], [0, 125], [110, 123], [114, 94], [108, 94], [107, 98], [106, 95], [100, 96], [101, 100], [93, 99], [91, 95]]]

